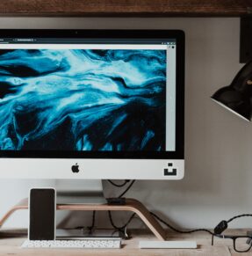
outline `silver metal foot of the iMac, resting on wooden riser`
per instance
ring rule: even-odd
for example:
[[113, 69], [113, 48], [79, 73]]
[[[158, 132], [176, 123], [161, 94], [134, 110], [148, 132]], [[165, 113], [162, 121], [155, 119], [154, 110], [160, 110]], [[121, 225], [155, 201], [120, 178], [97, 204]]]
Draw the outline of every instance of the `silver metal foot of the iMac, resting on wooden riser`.
[[58, 204], [104, 204], [104, 180], [56, 179]]

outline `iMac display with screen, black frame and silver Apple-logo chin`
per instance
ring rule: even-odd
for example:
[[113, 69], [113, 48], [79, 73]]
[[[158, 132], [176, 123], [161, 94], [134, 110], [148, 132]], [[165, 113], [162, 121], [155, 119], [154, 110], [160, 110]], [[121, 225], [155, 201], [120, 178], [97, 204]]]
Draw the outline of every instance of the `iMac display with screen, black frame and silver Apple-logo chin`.
[[184, 33], [0, 30], [1, 178], [182, 179]]

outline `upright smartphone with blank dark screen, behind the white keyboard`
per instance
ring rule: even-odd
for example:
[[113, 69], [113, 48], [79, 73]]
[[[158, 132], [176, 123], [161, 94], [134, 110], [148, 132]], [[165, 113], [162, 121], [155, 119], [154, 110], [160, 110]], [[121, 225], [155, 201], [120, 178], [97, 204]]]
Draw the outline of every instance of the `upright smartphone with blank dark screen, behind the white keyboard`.
[[55, 189], [32, 188], [29, 197], [29, 240], [55, 239]]

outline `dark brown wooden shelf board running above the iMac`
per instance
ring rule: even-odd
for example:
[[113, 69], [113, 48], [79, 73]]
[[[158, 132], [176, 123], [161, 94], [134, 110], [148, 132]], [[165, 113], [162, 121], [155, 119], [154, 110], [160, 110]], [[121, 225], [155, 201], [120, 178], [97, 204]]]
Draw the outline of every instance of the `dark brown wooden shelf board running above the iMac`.
[[0, 16], [240, 17], [251, 0], [1, 0]]

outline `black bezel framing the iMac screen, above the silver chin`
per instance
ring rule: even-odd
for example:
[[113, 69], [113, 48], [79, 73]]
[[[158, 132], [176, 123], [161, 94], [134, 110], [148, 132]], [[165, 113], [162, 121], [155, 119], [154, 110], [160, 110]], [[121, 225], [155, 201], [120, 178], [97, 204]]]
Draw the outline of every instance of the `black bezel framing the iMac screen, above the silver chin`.
[[175, 151], [68, 151], [0, 150], [15, 158], [184, 159], [184, 32], [181, 30], [61, 30], [0, 29], [2, 38], [97, 38], [176, 40], [176, 150]]

